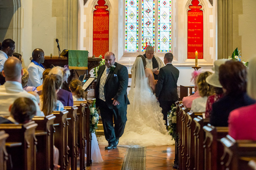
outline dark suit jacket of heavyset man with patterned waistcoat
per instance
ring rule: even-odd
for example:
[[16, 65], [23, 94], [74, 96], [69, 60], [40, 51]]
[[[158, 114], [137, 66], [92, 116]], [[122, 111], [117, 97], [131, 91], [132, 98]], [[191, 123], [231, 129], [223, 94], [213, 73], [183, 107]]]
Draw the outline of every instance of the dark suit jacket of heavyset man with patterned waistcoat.
[[[106, 83], [104, 86], [104, 94], [105, 100], [108, 108], [119, 108], [123, 107], [127, 104], [130, 104], [127, 97], [127, 87], [128, 87], [128, 71], [126, 66], [123, 66], [119, 63], [114, 64], [116, 66], [115, 70], [110, 70], [108, 73], [108, 77], [106, 79]], [[99, 86], [100, 79], [103, 71], [105, 71], [105, 64], [99, 67], [97, 83], [95, 87], [95, 98], [96, 98], [96, 107], [99, 107]], [[119, 105], [114, 106], [113, 100], [119, 101]]]

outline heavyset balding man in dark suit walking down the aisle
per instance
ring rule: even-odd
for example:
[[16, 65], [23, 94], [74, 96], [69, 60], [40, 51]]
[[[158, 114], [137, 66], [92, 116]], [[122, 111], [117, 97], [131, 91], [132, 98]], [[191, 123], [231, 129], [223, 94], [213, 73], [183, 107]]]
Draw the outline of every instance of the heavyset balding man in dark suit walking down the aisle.
[[105, 54], [105, 65], [99, 67], [95, 88], [96, 107], [100, 109], [104, 134], [108, 141], [105, 149], [116, 148], [127, 121], [127, 104], [130, 104], [126, 92], [127, 68], [115, 60], [114, 53]]

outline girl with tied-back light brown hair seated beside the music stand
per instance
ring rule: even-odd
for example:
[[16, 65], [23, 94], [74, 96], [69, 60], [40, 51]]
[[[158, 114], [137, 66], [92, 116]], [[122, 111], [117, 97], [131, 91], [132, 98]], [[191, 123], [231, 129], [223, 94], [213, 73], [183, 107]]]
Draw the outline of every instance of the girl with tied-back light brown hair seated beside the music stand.
[[82, 82], [78, 79], [73, 79], [69, 83], [69, 90], [72, 93], [73, 101], [85, 101], [84, 89]]

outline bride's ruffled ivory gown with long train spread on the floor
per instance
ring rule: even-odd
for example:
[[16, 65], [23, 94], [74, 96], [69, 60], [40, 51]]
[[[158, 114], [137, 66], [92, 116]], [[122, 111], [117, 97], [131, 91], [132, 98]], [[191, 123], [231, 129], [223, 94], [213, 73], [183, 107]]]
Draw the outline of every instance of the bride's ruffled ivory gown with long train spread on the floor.
[[[172, 145], [175, 141], [166, 131], [162, 108], [152, 92], [148, 77], [144, 78], [147, 88], [131, 88], [128, 94], [127, 121], [118, 146], [145, 147]], [[108, 144], [104, 136], [100, 144]]]

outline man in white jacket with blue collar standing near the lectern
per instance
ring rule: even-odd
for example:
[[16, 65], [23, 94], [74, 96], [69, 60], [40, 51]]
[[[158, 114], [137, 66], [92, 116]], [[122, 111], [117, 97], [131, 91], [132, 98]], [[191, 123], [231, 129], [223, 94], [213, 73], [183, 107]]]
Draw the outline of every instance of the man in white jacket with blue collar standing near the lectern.
[[28, 66], [28, 81], [27, 86], [34, 86], [38, 87], [41, 86], [43, 83], [43, 72], [44, 66], [44, 51], [40, 48], [34, 49], [32, 53], [33, 60]]

